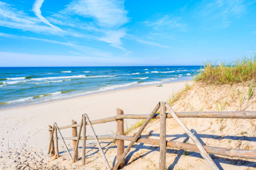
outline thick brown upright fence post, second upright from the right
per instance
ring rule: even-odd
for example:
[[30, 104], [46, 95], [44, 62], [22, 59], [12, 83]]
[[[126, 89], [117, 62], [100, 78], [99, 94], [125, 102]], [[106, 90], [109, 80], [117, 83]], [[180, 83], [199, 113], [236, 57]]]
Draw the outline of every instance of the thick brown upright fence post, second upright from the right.
[[[123, 115], [123, 110], [116, 108], [116, 115]], [[124, 135], [123, 119], [116, 121], [116, 134]], [[117, 158], [116, 161], [120, 159], [124, 152], [124, 140], [117, 140]], [[120, 163], [118, 169], [123, 169], [124, 160]]]

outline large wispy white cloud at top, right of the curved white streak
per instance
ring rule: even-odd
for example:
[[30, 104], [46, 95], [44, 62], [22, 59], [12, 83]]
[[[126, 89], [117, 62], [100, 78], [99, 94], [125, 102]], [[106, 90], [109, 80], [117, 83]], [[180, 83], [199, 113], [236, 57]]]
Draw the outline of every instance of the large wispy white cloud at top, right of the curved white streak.
[[85, 28], [97, 32], [98, 40], [125, 50], [120, 39], [126, 35], [126, 30], [120, 27], [128, 23], [129, 18], [123, 3], [123, 0], [74, 0], [61, 13], [93, 18], [95, 24]]

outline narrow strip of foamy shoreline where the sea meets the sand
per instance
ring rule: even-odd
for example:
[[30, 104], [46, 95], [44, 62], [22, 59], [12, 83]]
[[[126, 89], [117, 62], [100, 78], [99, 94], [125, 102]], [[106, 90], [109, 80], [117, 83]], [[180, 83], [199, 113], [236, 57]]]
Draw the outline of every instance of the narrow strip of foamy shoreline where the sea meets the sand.
[[[164, 82], [164, 83], [160, 83], [160, 84], [169, 84], [169, 83], [175, 83], [175, 82], [188, 82], [188, 81], [193, 81], [188, 79], [188, 80], [178, 80], [178, 81], [171, 81], [171, 82]], [[143, 88], [143, 87], [153, 87], [155, 85], [157, 85], [159, 83], [155, 83], [155, 84], [150, 84], [150, 85], [137, 85], [137, 86], [130, 86], [130, 87], [120, 87], [120, 88], [116, 88], [116, 89], [111, 89], [111, 90], [105, 90], [105, 91], [97, 91], [96, 92], [92, 92], [92, 93], [88, 93], [88, 94], [81, 94], [81, 95], [74, 95], [74, 96], [70, 96], [70, 97], [62, 97], [62, 98], [58, 98], [58, 99], [51, 99], [51, 100], [46, 100], [46, 101], [41, 101], [41, 102], [36, 102], [36, 103], [27, 103], [24, 105], [18, 105], [18, 106], [12, 106], [12, 107], [6, 107], [6, 108], [0, 108], [0, 112], [2, 110], [8, 110], [8, 109], [14, 109], [14, 108], [20, 108], [20, 107], [28, 107], [31, 105], [40, 105], [40, 104], [44, 104], [44, 103], [49, 103], [49, 102], [56, 102], [56, 101], [62, 101], [62, 100], [69, 100], [72, 98], [76, 98], [76, 97], [83, 97], [83, 96], [90, 96], [90, 95], [97, 95], [100, 93], [106, 93], [106, 92], [113, 92], [113, 91], [118, 91], [118, 90], [126, 90], [126, 89], [136, 89], [136, 88]]]

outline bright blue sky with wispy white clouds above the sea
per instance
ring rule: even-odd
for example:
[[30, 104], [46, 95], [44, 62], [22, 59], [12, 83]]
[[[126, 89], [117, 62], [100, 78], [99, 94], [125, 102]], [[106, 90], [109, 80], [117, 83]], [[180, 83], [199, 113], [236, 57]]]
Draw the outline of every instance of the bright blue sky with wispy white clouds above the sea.
[[0, 1], [0, 67], [201, 65], [256, 50], [256, 1]]

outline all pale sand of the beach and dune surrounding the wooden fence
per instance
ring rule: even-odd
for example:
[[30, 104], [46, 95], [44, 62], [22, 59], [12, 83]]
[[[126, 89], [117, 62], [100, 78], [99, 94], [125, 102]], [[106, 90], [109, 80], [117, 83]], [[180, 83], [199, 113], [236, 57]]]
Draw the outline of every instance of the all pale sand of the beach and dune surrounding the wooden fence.
[[[191, 82], [191, 81], [190, 81]], [[57, 122], [59, 127], [80, 122], [87, 113], [91, 120], [115, 115], [120, 107], [125, 114], [148, 114], [158, 101], [165, 101], [172, 92], [184, 87], [185, 82], [166, 83], [164, 87], [154, 85], [116, 90], [67, 100], [42, 103], [0, 111], [0, 169], [24, 170], [105, 170], [99, 150], [93, 141], [87, 141], [86, 165], [81, 160], [71, 164], [64, 145], [59, 140], [60, 158], [52, 160], [46, 154], [49, 145], [47, 125]], [[172, 104], [174, 111], [237, 111], [256, 109], [256, 90], [248, 100], [248, 85], [193, 85]], [[242, 100], [240, 100], [242, 99]], [[51, 118], [49, 118], [51, 117]], [[208, 146], [256, 150], [256, 120], [181, 118], [202, 144]], [[128, 125], [133, 121], [128, 122]], [[115, 122], [93, 125], [98, 135], [115, 132]], [[142, 135], [159, 139], [159, 120], [150, 122]], [[92, 135], [87, 128], [87, 135]], [[138, 129], [128, 135], [134, 135]], [[71, 136], [71, 129], [61, 130], [63, 136]], [[166, 140], [193, 143], [173, 119], [166, 120]], [[71, 141], [67, 141], [72, 151]], [[129, 141], [125, 141], [125, 146]], [[79, 143], [81, 146], [82, 143]], [[101, 146], [110, 167], [116, 158], [116, 143], [101, 141]], [[79, 158], [82, 148], [79, 148]], [[207, 162], [200, 153], [168, 148], [166, 152], [168, 170], [208, 170]], [[223, 170], [256, 170], [256, 161], [245, 158], [230, 158], [214, 155], [213, 160]], [[124, 170], [157, 170], [159, 147], [135, 143], [125, 158]]]

